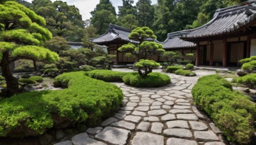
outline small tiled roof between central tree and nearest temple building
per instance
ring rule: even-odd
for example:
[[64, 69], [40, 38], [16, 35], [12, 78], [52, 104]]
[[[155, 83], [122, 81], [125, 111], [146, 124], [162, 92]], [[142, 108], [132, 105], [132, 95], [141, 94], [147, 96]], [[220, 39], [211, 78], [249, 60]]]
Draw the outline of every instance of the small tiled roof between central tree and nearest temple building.
[[196, 46], [195, 43], [184, 41], [179, 38], [184, 32], [186, 31], [169, 33], [167, 39], [161, 43], [164, 46], [164, 49], [194, 48]]

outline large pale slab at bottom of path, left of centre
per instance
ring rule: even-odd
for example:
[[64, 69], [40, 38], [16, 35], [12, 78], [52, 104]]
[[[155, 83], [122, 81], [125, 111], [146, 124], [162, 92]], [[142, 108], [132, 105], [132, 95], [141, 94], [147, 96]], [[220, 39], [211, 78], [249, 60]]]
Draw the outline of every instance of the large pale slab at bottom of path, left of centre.
[[106, 127], [102, 132], [95, 135], [96, 139], [106, 141], [109, 144], [127, 144], [131, 132], [121, 128]]

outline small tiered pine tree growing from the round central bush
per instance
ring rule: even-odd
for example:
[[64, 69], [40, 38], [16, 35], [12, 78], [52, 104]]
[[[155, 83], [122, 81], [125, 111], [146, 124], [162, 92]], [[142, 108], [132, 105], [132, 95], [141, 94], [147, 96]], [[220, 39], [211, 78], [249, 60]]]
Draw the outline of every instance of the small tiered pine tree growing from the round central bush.
[[[134, 29], [131, 34], [129, 34], [129, 39], [134, 41], [138, 41], [138, 45], [134, 45], [129, 43], [127, 45], [123, 45], [122, 47], [118, 48], [120, 52], [127, 52], [132, 53], [138, 57], [138, 61], [136, 63], [136, 67], [138, 67], [138, 72], [141, 78], [145, 78], [148, 73], [152, 72], [154, 67], [160, 66], [154, 60], [147, 60], [150, 59], [153, 55], [159, 55], [164, 52], [163, 45], [156, 43], [154, 41], [145, 41], [150, 39], [156, 39], [154, 32], [149, 29], [148, 27], [138, 27]], [[141, 69], [145, 71], [142, 72]]]

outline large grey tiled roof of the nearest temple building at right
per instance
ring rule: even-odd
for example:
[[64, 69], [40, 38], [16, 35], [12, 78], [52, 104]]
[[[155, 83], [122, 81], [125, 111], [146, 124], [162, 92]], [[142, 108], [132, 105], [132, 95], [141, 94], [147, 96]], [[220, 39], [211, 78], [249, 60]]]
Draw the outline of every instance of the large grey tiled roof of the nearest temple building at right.
[[204, 38], [234, 32], [256, 19], [256, 1], [247, 1], [236, 6], [216, 10], [214, 18], [196, 29], [180, 31], [182, 39]]

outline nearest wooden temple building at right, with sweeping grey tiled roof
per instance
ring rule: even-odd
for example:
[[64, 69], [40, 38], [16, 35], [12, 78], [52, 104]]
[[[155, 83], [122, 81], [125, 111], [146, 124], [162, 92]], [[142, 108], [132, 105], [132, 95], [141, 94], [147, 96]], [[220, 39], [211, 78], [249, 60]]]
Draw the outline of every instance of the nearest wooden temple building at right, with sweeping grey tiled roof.
[[207, 24], [179, 34], [196, 43], [196, 66], [237, 66], [256, 55], [256, 1], [217, 10]]

